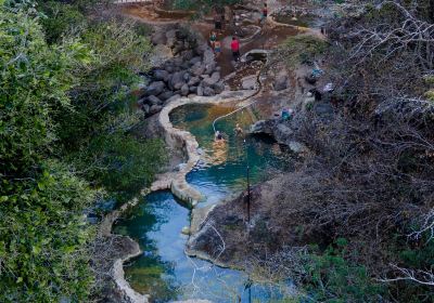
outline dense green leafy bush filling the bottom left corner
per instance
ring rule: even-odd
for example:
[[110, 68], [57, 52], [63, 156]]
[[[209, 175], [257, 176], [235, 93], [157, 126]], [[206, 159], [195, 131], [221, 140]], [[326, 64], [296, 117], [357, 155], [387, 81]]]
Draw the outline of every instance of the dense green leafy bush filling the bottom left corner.
[[50, 161], [25, 180], [1, 179], [0, 301], [86, 299], [92, 277], [80, 211], [94, 198], [86, 182]]

